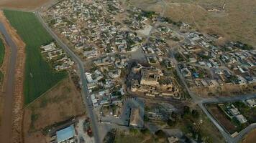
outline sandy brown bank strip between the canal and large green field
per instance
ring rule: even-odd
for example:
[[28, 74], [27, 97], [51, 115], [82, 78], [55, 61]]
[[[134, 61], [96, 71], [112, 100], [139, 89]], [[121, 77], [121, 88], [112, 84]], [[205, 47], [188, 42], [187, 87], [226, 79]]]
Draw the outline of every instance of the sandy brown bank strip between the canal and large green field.
[[[12, 142], [19, 142], [21, 139], [22, 131], [22, 115], [23, 115], [23, 82], [24, 82], [24, 64], [25, 64], [25, 44], [19, 35], [16, 33], [16, 30], [12, 28], [9, 24], [9, 21], [6, 20], [3, 11], [0, 11], [0, 21], [6, 27], [6, 31], [12, 36], [12, 40], [17, 45], [17, 62], [15, 70], [15, 87], [14, 87], [14, 101], [12, 103], [4, 104], [13, 104], [12, 109]], [[3, 118], [4, 119], [4, 118]]]

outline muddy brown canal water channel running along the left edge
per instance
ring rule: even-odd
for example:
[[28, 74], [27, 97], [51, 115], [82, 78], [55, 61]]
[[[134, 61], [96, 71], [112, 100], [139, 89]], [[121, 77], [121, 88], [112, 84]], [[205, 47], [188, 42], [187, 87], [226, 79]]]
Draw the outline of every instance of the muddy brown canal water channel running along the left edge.
[[8, 70], [6, 74], [6, 87], [4, 89], [4, 114], [1, 119], [0, 142], [9, 143], [12, 139], [12, 108], [14, 102], [15, 69], [17, 61], [17, 45], [12, 41], [11, 36], [6, 31], [4, 24], [0, 22], [0, 32], [4, 36], [6, 44], [11, 48]]

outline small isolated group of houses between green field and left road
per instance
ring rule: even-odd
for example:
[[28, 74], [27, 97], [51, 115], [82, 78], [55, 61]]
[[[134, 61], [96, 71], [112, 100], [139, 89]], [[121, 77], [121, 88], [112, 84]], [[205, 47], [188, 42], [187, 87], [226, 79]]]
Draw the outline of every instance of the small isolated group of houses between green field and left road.
[[41, 46], [40, 49], [41, 53], [52, 63], [52, 67], [55, 71], [70, 69], [74, 64], [74, 61], [67, 56], [65, 51], [56, 46], [54, 42]]

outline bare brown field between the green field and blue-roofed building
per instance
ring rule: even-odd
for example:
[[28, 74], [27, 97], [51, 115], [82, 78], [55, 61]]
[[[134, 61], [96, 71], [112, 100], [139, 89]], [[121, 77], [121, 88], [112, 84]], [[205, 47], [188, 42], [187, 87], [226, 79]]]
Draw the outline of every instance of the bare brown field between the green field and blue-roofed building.
[[70, 78], [64, 79], [50, 92], [24, 109], [23, 134], [26, 143], [45, 143], [42, 129], [70, 117], [85, 114], [81, 93]]

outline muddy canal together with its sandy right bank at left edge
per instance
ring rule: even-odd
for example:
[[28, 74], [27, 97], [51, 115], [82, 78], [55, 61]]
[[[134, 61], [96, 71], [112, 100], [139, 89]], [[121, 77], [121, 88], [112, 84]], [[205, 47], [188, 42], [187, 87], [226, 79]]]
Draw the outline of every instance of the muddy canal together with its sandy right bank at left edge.
[[1, 120], [0, 142], [20, 142], [22, 129], [24, 47], [16, 31], [0, 11], [0, 31], [11, 49], [4, 89], [4, 117]]

